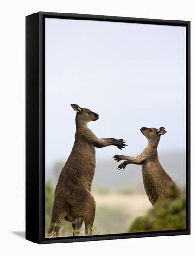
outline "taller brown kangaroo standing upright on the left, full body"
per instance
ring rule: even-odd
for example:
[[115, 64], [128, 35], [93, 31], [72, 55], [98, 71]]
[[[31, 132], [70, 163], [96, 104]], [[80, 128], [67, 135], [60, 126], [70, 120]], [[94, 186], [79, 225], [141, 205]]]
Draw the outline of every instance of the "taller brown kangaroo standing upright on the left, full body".
[[127, 146], [123, 139], [99, 139], [87, 127], [90, 121], [96, 121], [99, 115], [87, 108], [71, 104], [76, 114], [76, 133], [71, 154], [63, 167], [55, 189], [55, 200], [48, 234], [59, 235], [63, 219], [71, 222], [73, 236], [78, 236], [82, 223], [85, 235], [91, 235], [95, 217], [95, 200], [91, 195], [91, 184], [96, 167], [95, 147], [110, 145], [119, 149]]

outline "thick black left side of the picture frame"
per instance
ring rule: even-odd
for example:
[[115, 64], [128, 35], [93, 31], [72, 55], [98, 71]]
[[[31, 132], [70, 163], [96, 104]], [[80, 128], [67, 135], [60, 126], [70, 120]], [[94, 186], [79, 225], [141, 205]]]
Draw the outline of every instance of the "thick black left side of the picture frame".
[[39, 243], [39, 13], [26, 17], [26, 235]]

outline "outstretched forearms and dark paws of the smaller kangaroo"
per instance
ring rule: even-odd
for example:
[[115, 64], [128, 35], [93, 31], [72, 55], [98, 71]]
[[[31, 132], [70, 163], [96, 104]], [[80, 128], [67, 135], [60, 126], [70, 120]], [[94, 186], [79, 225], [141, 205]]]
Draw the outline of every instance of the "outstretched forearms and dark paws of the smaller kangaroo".
[[131, 156], [125, 156], [125, 155], [114, 155], [113, 156], [114, 160], [119, 162], [121, 160], [126, 160], [124, 161], [123, 163], [121, 163], [119, 166], [118, 166], [118, 169], [123, 169], [130, 163], [133, 163], [133, 164], [144, 164], [145, 161], [146, 161], [146, 157], [144, 157], [143, 155], [138, 155], [136, 157], [131, 157]]

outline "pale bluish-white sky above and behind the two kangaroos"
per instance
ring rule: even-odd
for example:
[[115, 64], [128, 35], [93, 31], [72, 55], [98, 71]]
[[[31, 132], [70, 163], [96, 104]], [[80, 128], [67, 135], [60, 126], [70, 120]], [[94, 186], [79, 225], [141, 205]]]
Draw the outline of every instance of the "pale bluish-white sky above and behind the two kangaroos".
[[46, 168], [71, 152], [71, 103], [99, 114], [89, 123], [98, 137], [127, 141], [123, 151], [97, 148], [97, 160], [141, 153], [142, 126], [166, 128], [159, 154], [185, 151], [185, 33], [179, 26], [46, 18]]

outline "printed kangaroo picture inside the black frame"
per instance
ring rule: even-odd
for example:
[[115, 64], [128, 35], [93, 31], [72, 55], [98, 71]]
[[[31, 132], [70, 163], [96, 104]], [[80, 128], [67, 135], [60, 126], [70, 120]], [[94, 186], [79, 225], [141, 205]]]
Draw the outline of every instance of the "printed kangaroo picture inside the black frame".
[[186, 27], [45, 18], [45, 238], [186, 229]]

